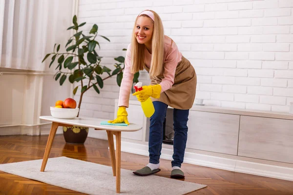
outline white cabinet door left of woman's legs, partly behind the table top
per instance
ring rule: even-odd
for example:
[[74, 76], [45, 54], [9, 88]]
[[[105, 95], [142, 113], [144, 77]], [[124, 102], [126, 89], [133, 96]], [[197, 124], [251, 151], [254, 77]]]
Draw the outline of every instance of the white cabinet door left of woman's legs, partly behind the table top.
[[[135, 123], [138, 125], [143, 126], [144, 121], [144, 112], [140, 105], [132, 105], [129, 104], [129, 107], [126, 109], [128, 113], [128, 122], [129, 123]], [[143, 127], [144, 129], [144, 127]], [[143, 129], [139, 131], [134, 132], [122, 132], [121, 137], [127, 138], [127, 139], [135, 139], [135, 140], [143, 140]]]

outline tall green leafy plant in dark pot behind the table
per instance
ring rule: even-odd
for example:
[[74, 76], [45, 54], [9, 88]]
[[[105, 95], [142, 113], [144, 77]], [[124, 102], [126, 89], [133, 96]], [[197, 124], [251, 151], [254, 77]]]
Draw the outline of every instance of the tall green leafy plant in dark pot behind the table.
[[[105, 79], [116, 75], [117, 84], [120, 86], [125, 67], [125, 58], [123, 56], [114, 58], [117, 62], [114, 64], [115, 69], [113, 71], [102, 65], [101, 61], [103, 57], [99, 56], [96, 51], [97, 46], [100, 49], [100, 44], [96, 38], [101, 37], [107, 41], [110, 40], [102, 35], [98, 35], [97, 24], [92, 26], [89, 35], [84, 35], [84, 32], [81, 30], [79, 31], [79, 28], [84, 26], [86, 22], [78, 24], [76, 16], [73, 17], [72, 22], [73, 26], [70, 26], [67, 30], [72, 29], [75, 32], [65, 45], [66, 52], [60, 53], [60, 44], [55, 44], [53, 52], [47, 54], [42, 62], [49, 56], [52, 56], [49, 64], [49, 68], [51, 68], [52, 64], [57, 61], [57, 63], [55, 63], [57, 64], [55, 68], [57, 72], [53, 78], [55, 78], [56, 81], [59, 80], [60, 85], [63, 85], [66, 78], [68, 78], [70, 83], [79, 83], [79, 85], [74, 88], [73, 94], [75, 95], [78, 90], [81, 90], [77, 106], [80, 109], [84, 93], [90, 88], [93, 88], [100, 94], [100, 89], [103, 88]], [[123, 50], [125, 51], [126, 49]], [[105, 74], [106, 76], [103, 77]], [[138, 77], [139, 72], [134, 75], [134, 83], [138, 82]], [[88, 128], [76, 126], [63, 127], [63, 136], [66, 143], [83, 144], [87, 137], [87, 133]]]

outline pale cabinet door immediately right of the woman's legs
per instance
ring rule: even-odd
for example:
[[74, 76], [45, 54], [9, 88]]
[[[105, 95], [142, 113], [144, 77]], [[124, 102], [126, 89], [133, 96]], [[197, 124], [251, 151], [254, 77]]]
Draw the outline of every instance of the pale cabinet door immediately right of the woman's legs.
[[239, 115], [189, 111], [187, 148], [237, 155]]

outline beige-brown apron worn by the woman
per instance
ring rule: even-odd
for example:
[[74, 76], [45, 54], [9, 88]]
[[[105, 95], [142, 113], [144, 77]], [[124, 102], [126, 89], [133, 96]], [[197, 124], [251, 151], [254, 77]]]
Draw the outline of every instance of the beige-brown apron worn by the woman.
[[[149, 68], [144, 64], [144, 68], [149, 72]], [[164, 72], [157, 77], [150, 77], [151, 85], [160, 84], [164, 78]], [[188, 59], [182, 56], [182, 60], [177, 64], [174, 84], [171, 89], [161, 93], [160, 98], [151, 98], [152, 101], [161, 101], [168, 106], [181, 110], [188, 110], [192, 107], [196, 91], [196, 73]]]

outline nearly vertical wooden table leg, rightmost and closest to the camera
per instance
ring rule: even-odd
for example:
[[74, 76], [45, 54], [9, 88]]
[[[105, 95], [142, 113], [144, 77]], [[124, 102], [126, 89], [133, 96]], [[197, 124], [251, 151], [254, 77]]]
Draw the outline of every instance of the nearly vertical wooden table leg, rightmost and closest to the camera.
[[116, 136], [116, 193], [120, 193], [121, 131], [115, 132], [115, 136]]

